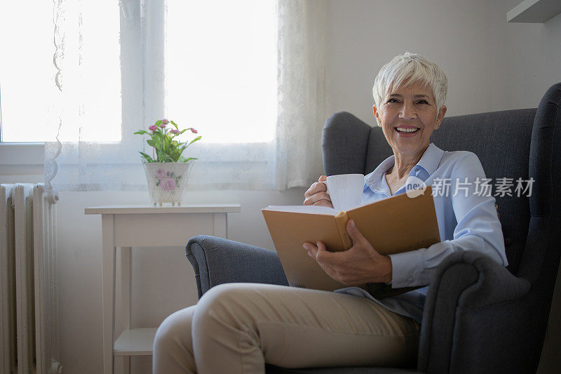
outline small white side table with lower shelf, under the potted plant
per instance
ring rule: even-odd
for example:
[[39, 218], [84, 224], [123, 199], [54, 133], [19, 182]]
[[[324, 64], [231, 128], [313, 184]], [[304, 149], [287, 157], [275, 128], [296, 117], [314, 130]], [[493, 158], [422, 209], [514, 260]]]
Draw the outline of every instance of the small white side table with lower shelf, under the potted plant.
[[[102, 216], [103, 236], [103, 372], [112, 374], [115, 356], [151, 356], [156, 328], [130, 328], [130, 248], [184, 246], [191, 236], [228, 237], [227, 213], [238, 213], [240, 204], [188, 204], [154, 207], [100, 206], [86, 214]], [[155, 234], [157, 233], [157, 234]], [[124, 330], [116, 337], [116, 248], [121, 248]], [[120, 314], [121, 315], [121, 314]]]

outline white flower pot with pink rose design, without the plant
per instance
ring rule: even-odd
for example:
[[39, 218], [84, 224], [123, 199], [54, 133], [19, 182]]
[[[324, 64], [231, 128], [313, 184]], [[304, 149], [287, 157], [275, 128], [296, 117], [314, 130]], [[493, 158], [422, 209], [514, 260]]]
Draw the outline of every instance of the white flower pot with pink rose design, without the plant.
[[162, 203], [181, 205], [181, 200], [194, 160], [187, 162], [142, 163], [148, 190], [154, 206]]

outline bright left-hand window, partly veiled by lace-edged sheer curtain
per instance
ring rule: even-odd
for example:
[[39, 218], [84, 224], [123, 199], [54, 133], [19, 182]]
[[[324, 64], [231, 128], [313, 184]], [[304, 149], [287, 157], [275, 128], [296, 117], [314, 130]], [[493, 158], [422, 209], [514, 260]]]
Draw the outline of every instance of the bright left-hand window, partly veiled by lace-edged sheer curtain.
[[109, 13], [95, 1], [65, 3], [65, 22], [58, 24], [65, 33], [60, 94], [53, 64], [53, 7], [53, 1], [33, 6], [0, 2], [1, 141], [54, 140], [62, 114], [63, 121], [79, 123], [79, 130], [63, 127], [61, 141], [118, 142], [121, 98], [120, 85], [114, 82], [121, 79], [119, 8]]

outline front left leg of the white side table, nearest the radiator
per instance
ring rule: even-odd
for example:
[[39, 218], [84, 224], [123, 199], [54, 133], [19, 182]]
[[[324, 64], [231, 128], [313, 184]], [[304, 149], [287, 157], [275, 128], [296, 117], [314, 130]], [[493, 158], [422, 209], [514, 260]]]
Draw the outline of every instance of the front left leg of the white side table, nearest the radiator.
[[115, 342], [115, 227], [114, 215], [102, 215], [103, 237], [103, 373], [113, 374], [113, 346]]

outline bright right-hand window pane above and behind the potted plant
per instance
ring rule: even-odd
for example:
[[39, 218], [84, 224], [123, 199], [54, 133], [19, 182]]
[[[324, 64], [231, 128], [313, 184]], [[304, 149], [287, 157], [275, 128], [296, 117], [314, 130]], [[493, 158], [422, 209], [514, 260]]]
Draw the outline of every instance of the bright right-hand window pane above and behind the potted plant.
[[205, 144], [271, 142], [276, 1], [168, 0], [166, 112]]

